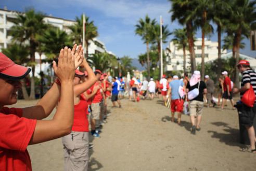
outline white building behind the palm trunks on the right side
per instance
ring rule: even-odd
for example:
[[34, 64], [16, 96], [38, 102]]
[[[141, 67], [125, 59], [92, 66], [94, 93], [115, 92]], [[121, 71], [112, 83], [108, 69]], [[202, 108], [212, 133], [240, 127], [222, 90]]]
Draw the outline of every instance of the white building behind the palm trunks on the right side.
[[[201, 54], [202, 54], [202, 39], [197, 38], [194, 42], [195, 44], [195, 54], [196, 54], [196, 63], [200, 64]], [[170, 42], [168, 48], [171, 52], [165, 51], [167, 55], [167, 66], [164, 67], [164, 72], [168, 70], [183, 70], [183, 49], [178, 49], [177, 45], [173, 44], [173, 41]], [[218, 43], [212, 42], [211, 40], [204, 39], [204, 61], [208, 61], [218, 56]], [[221, 49], [222, 54], [226, 54], [226, 50]], [[190, 57], [189, 51], [186, 50], [186, 68], [190, 67]]]

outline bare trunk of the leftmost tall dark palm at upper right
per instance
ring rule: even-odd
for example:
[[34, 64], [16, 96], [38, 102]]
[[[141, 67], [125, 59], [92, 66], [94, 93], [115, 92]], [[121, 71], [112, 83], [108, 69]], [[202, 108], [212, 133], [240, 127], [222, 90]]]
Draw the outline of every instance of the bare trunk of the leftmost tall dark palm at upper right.
[[191, 73], [194, 73], [194, 71], [196, 70], [196, 59], [195, 59], [196, 55], [195, 55], [194, 39], [193, 39], [193, 24], [191, 21], [188, 21], [186, 23], [186, 29], [187, 29], [189, 52], [190, 52]]

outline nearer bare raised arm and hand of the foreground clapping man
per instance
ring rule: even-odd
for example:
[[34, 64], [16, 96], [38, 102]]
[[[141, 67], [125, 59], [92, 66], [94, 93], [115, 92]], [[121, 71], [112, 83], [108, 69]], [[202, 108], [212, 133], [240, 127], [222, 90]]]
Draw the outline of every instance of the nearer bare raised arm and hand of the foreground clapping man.
[[[64, 50], [61, 49], [60, 51], [58, 67], [54, 62], [54, 72], [61, 82], [61, 86], [56, 85], [55, 87], [61, 89], [60, 103], [52, 120], [37, 120], [29, 145], [42, 143], [71, 133], [74, 118], [73, 78], [75, 65], [73, 57], [74, 56], [71, 55], [71, 49], [65, 47]], [[59, 92], [50, 91], [49, 94], [56, 99], [55, 93], [58, 94]], [[53, 101], [49, 99], [48, 103], [52, 102]], [[54, 106], [55, 104], [56, 103], [52, 105]], [[36, 108], [32, 107], [22, 110], [23, 112], [32, 112], [36, 115], [37, 111], [34, 109]], [[41, 109], [44, 109], [44, 106], [42, 106]]]

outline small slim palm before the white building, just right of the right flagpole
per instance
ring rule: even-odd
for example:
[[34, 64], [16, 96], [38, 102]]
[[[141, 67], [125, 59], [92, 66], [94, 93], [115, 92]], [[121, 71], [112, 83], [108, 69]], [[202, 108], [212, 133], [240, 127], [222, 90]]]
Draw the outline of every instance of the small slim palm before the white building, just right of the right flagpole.
[[175, 29], [174, 38], [171, 40], [175, 45], [178, 45], [178, 49], [183, 49], [183, 73], [186, 73], [186, 46], [188, 44], [186, 27], [183, 29]]

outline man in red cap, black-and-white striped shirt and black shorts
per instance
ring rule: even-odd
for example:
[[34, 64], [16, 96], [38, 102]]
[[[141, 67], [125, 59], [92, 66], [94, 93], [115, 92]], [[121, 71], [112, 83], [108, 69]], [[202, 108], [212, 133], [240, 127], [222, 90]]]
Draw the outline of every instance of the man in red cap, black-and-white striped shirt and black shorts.
[[[246, 60], [239, 61], [237, 65], [240, 73], [242, 74], [242, 80], [241, 80], [241, 88], [237, 89], [234, 88], [234, 93], [240, 92], [240, 97], [245, 94], [247, 90], [250, 89], [252, 86], [254, 92], [256, 92], [256, 73], [253, 72], [253, 70], [250, 68], [250, 63]], [[256, 105], [254, 102], [253, 107], [246, 106], [242, 103], [241, 107], [241, 124], [244, 125], [248, 131], [249, 139], [250, 139], [250, 147], [241, 149], [242, 152], [252, 152], [256, 153], [255, 149], [255, 130], [253, 127], [253, 119], [256, 112]]]

